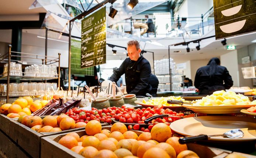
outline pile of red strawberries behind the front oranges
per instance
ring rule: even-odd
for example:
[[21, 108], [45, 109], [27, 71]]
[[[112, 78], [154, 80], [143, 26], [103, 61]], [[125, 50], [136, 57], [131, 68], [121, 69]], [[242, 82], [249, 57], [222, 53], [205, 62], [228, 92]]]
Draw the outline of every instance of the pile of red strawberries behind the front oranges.
[[155, 115], [168, 114], [171, 116], [184, 116], [183, 113], [177, 113], [171, 109], [163, 109], [163, 105], [155, 106], [153, 108], [138, 108], [134, 107], [125, 107], [124, 105], [120, 107], [109, 107], [104, 109], [92, 108], [90, 111], [84, 109], [73, 108], [66, 112], [66, 115], [69, 115], [70, 118], [73, 118], [76, 122], [89, 122], [91, 120], [97, 120], [101, 123], [113, 123], [113, 119], [120, 121], [122, 123], [137, 123], [132, 126], [129, 125], [128, 129], [141, 130], [145, 132], [150, 132], [153, 125], [157, 123], [166, 123], [170, 125], [171, 122], [176, 121], [176, 117], [167, 117], [167, 118], [157, 118], [152, 120], [153, 125], [149, 125], [148, 128], [140, 127], [139, 124], [144, 123], [145, 119], [150, 118]]

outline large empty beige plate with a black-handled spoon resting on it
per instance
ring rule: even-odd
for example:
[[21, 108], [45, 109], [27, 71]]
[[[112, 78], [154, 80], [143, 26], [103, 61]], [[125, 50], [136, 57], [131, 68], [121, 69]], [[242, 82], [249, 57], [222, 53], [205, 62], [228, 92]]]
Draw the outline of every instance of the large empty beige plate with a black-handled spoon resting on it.
[[184, 136], [199, 134], [223, 134], [231, 129], [241, 129], [245, 136], [240, 139], [211, 137], [215, 141], [253, 141], [256, 140], [256, 119], [236, 116], [199, 116], [179, 119], [171, 123], [170, 128]]

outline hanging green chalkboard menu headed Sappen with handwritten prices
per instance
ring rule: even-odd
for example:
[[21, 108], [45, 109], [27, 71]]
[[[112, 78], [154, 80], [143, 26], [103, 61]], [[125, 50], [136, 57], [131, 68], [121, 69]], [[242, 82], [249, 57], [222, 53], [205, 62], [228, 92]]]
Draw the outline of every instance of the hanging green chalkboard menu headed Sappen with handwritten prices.
[[106, 7], [82, 20], [81, 68], [106, 63]]

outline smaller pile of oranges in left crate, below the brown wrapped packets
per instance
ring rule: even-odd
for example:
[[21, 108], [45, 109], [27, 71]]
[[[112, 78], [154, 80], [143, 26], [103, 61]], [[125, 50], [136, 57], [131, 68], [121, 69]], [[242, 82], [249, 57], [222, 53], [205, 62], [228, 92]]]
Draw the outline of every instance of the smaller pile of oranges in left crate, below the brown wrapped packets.
[[39, 116], [22, 115], [18, 122], [28, 126], [37, 132], [60, 132], [62, 130], [85, 127], [86, 123], [77, 122], [66, 114], [59, 116], [45, 116], [43, 119]]

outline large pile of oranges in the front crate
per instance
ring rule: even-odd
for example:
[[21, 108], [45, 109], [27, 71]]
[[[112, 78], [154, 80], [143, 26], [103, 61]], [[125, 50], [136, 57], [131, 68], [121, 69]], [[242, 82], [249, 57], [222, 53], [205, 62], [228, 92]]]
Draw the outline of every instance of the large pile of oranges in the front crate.
[[180, 144], [178, 137], [172, 137], [169, 126], [165, 123], [156, 125], [151, 133], [143, 132], [138, 136], [128, 131], [123, 123], [114, 123], [111, 130], [102, 130], [100, 122], [92, 120], [85, 128], [87, 135], [68, 133], [58, 143], [87, 158], [198, 157], [187, 150], [186, 144]]

